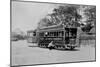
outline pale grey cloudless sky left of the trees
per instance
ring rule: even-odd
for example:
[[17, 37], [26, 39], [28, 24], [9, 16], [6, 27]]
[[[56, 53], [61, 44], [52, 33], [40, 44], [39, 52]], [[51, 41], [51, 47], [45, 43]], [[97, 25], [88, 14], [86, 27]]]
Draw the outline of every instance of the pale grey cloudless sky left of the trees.
[[55, 4], [12, 1], [12, 31], [34, 30], [38, 22], [57, 7]]

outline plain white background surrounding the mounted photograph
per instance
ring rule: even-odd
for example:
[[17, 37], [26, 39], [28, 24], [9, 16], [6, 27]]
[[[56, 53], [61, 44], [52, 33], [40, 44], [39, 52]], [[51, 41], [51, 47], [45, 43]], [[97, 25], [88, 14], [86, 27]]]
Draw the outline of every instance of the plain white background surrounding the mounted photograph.
[[[53, 65], [40, 65], [34, 67], [99, 67], [100, 64], [100, 42], [99, 42], [99, 13], [100, 2], [99, 0], [27, 0], [27, 1], [40, 1], [40, 2], [56, 2], [56, 3], [69, 3], [69, 4], [85, 4], [96, 5], [97, 11], [97, 61], [84, 62], [84, 63], [70, 63], [70, 64], [53, 64]], [[10, 0], [0, 0], [0, 67], [9, 67], [10, 64]], [[33, 67], [33, 66], [25, 66]]]

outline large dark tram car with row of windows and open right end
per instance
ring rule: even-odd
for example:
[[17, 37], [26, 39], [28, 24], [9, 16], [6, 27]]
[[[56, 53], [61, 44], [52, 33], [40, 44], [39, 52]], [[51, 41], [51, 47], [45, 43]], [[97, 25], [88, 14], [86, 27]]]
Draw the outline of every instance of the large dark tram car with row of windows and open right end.
[[54, 42], [56, 49], [74, 49], [77, 44], [77, 28], [63, 25], [41, 28], [37, 31], [39, 47], [48, 48], [50, 42]]

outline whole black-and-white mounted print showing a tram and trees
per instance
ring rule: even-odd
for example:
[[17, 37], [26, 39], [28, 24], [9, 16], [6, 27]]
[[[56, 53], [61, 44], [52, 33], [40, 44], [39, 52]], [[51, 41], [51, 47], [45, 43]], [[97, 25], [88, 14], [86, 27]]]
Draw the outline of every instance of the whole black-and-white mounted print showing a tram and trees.
[[96, 61], [96, 6], [11, 0], [10, 65]]

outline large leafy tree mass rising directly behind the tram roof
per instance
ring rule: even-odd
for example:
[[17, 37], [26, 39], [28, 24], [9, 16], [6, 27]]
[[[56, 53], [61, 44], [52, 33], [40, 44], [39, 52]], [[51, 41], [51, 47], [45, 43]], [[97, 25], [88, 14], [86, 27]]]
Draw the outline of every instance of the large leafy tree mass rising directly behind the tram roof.
[[64, 25], [79, 26], [78, 21], [81, 19], [81, 15], [78, 13], [78, 7], [75, 6], [59, 6], [53, 10], [53, 13], [48, 14], [48, 18], [43, 18], [39, 22], [40, 26], [52, 26], [62, 23]]

